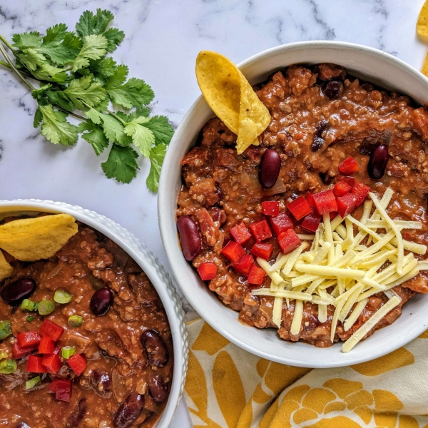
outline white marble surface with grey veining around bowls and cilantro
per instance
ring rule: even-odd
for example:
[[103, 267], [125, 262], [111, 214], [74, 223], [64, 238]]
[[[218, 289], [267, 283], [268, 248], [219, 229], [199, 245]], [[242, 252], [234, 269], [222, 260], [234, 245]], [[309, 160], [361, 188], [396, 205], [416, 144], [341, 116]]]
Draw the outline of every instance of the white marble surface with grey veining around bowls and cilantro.
[[[382, 49], [420, 68], [428, 46], [414, 26], [424, 0], [14, 0], [0, 1], [0, 34], [64, 22], [73, 27], [86, 9], [111, 9], [126, 39], [114, 54], [131, 76], [153, 86], [153, 112], [174, 126], [199, 95], [194, 75], [201, 49], [239, 62], [292, 41], [351, 41]], [[86, 141], [53, 146], [34, 130], [35, 102], [24, 86], [0, 70], [0, 199], [40, 198], [81, 205], [135, 233], [167, 269], [158, 231], [156, 195], [146, 189], [141, 161], [130, 185], [108, 180]], [[193, 315], [186, 306], [190, 317]], [[191, 427], [180, 403], [171, 428]]]

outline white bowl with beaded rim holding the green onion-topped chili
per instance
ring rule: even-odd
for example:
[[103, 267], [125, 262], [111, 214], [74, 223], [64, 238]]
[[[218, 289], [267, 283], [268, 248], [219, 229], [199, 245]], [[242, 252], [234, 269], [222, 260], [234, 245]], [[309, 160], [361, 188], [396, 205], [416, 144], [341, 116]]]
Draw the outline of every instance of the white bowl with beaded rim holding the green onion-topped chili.
[[175, 409], [183, 393], [185, 372], [188, 363], [188, 335], [185, 329], [184, 312], [181, 307], [180, 297], [178, 297], [168, 273], [153, 253], [146, 248], [146, 245], [141, 243], [128, 230], [122, 228], [121, 225], [103, 215], [90, 210], [84, 210], [76, 205], [52, 202], [51, 200], [0, 200], [0, 215], [3, 213], [25, 213], [29, 211], [73, 215], [76, 220], [98, 230], [121, 246], [138, 263], [141, 269], [146, 272], [146, 275], [156, 288], [159, 297], [161, 297], [173, 337], [173, 383], [168, 402], [156, 424], [156, 428], [167, 428], [173, 419]]

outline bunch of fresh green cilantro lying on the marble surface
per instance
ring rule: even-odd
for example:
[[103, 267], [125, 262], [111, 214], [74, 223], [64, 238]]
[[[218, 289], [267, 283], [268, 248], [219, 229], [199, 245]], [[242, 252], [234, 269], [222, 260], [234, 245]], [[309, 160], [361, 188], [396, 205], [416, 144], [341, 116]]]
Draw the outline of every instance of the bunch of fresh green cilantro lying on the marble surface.
[[[97, 156], [110, 147], [101, 168], [108, 178], [122, 183], [136, 177], [136, 159], [141, 154], [151, 161], [146, 183], [156, 193], [173, 128], [165, 116], [149, 117], [152, 88], [140, 78], [128, 78], [128, 67], [108, 56], [125, 36], [107, 28], [113, 18], [108, 10], [85, 11], [76, 32], [57, 24], [46, 30], [46, 36], [36, 31], [14, 34], [13, 44], [0, 36], [15, 60], [0, 42], [6, 59], [0, 64], [31, 89], [38, 103], [34, 128], [40, 126], [51, 143], [73, 146], [81, 134]], [[29, 78], [39, 81], [39, 88]], [[68, 122], [68, 115], [81, 123]]]

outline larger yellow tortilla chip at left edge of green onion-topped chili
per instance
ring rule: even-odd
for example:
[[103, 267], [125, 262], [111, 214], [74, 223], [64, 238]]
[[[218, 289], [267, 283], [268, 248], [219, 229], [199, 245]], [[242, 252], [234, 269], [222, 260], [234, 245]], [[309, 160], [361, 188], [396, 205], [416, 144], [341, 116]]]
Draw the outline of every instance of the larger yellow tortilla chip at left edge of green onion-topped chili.
[[0, 226], [0, 248], [24, 262], [51, 258], [77, 233], [68, 214], [21, 218]]

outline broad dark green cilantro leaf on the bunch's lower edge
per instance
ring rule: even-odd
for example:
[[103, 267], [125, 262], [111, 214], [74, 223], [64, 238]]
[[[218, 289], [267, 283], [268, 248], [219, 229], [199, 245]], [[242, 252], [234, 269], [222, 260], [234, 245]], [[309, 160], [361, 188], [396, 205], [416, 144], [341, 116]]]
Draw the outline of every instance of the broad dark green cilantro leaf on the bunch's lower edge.
[[106, 162], [101, 163], [107, 178], [116, 178], [121, 183], [130, 183], [137, 175], [138, 153], [131, 147], [121, 147], [113, 144]]

